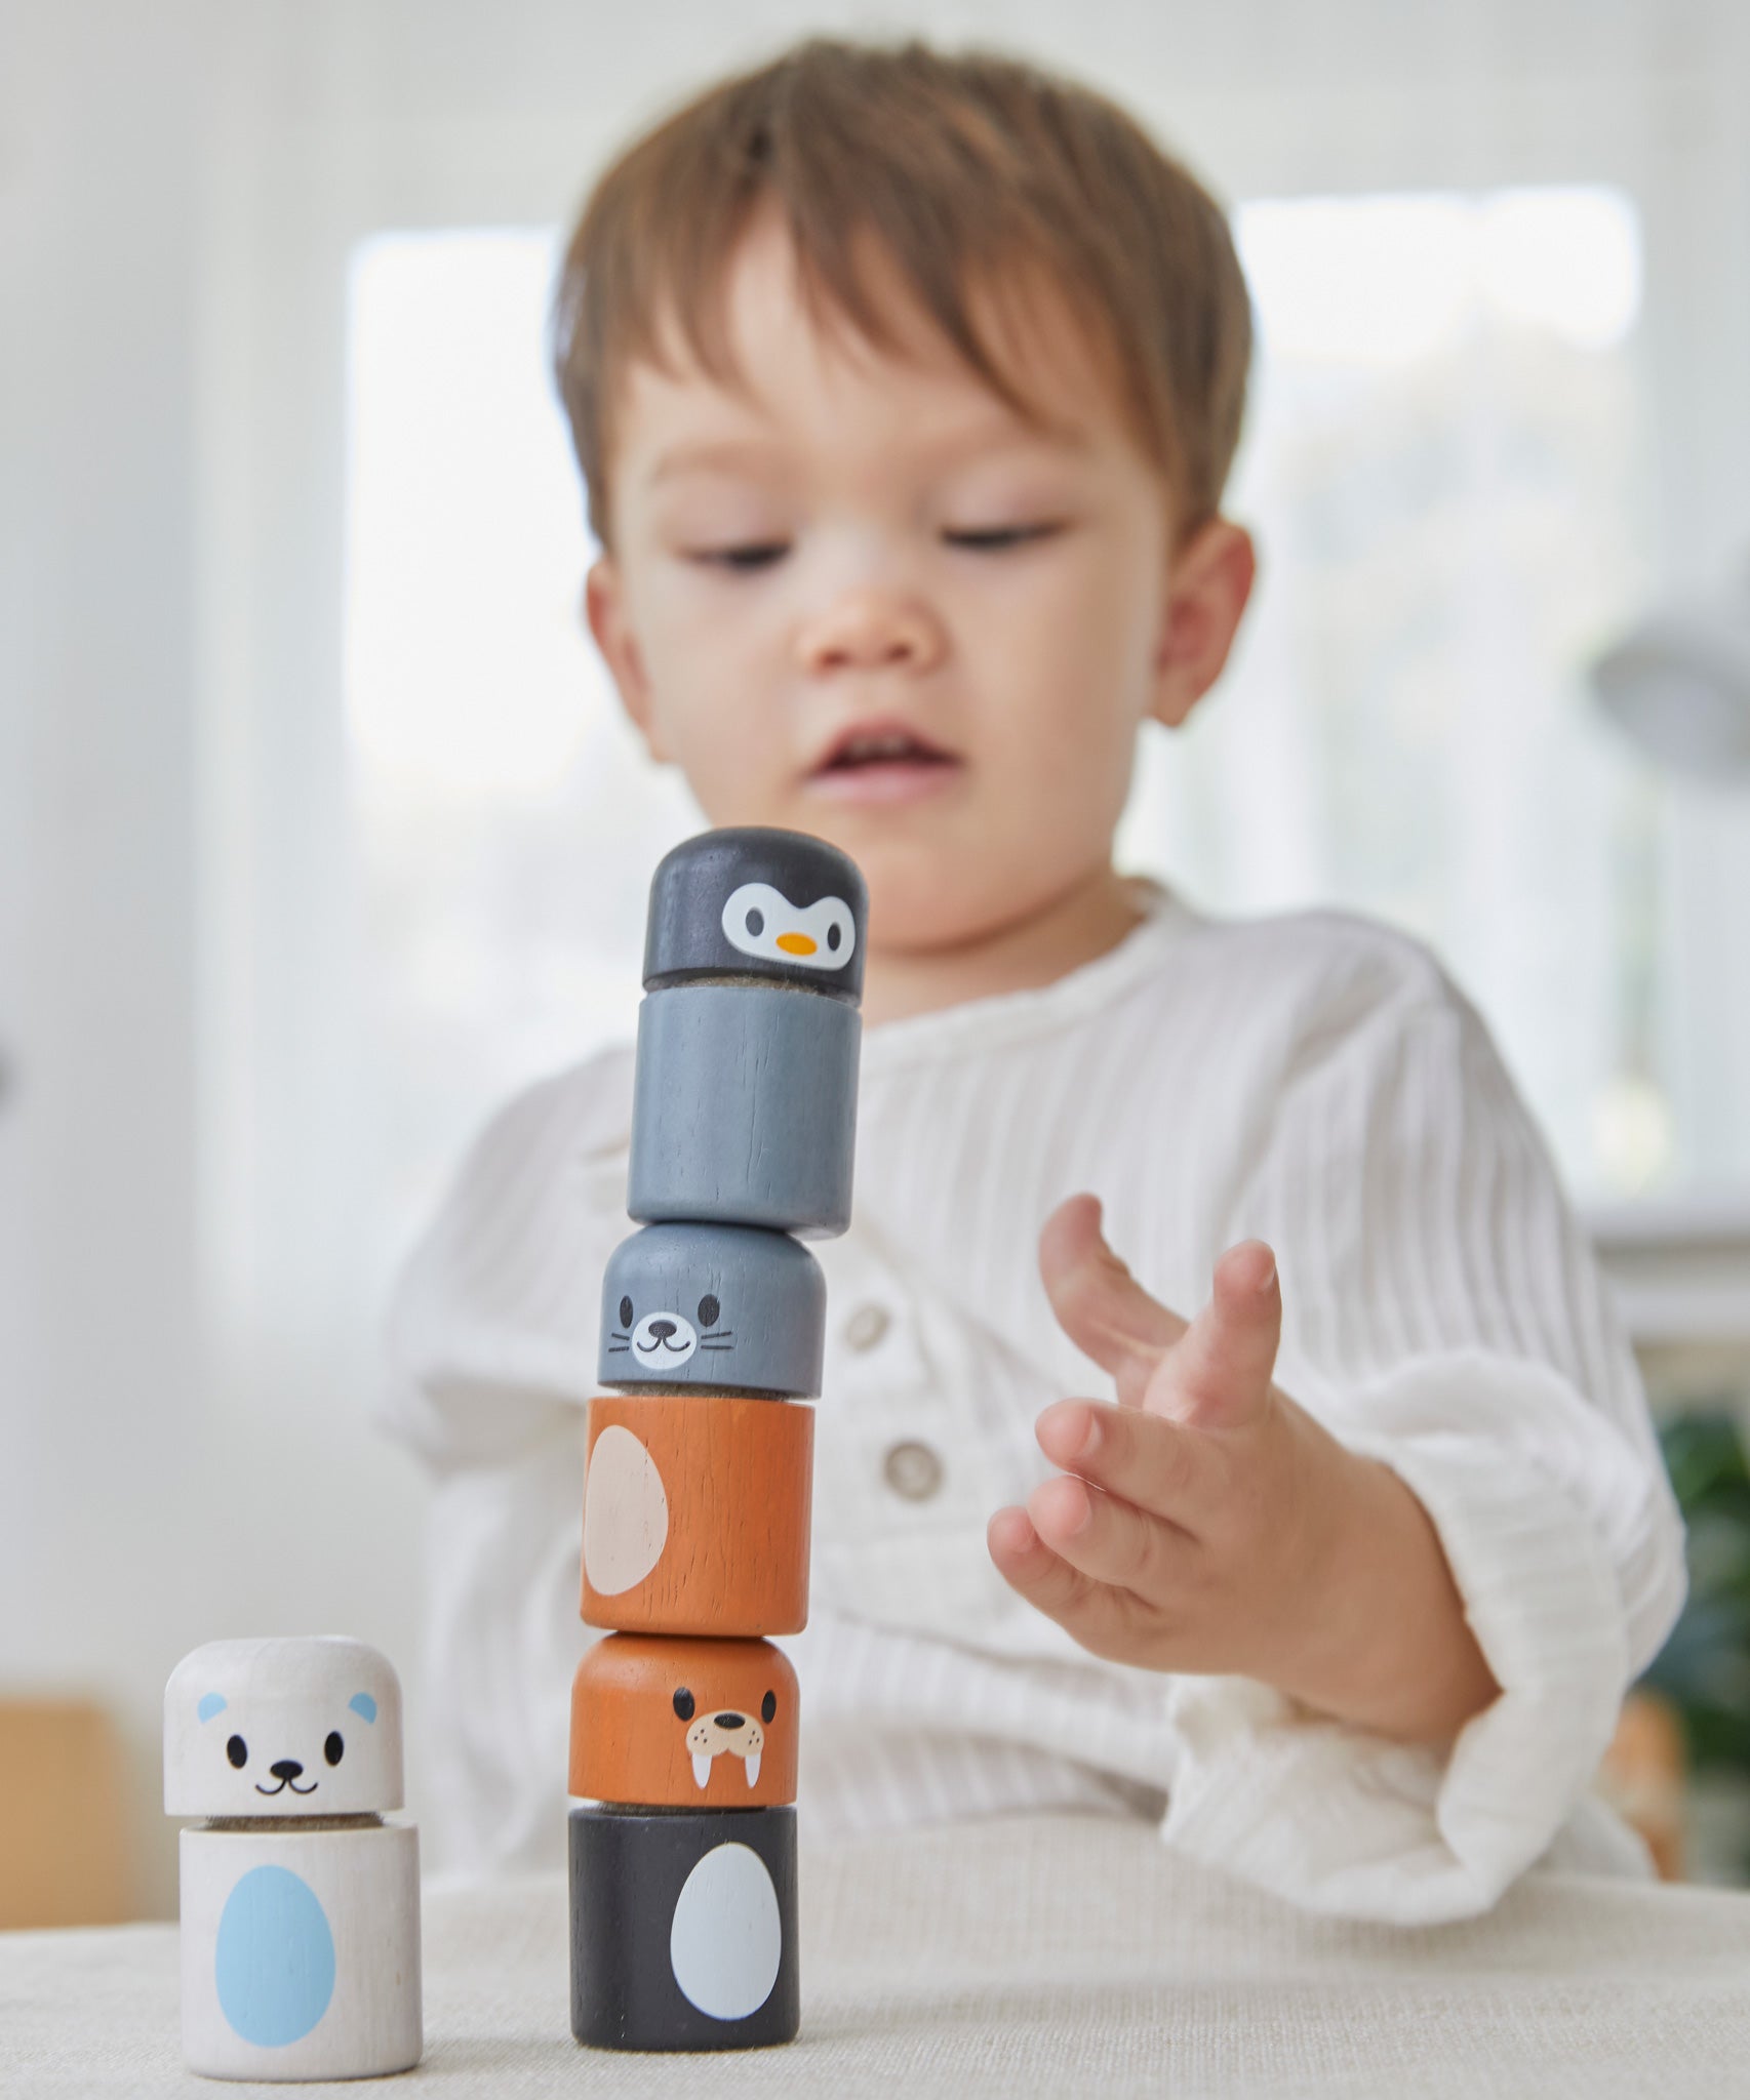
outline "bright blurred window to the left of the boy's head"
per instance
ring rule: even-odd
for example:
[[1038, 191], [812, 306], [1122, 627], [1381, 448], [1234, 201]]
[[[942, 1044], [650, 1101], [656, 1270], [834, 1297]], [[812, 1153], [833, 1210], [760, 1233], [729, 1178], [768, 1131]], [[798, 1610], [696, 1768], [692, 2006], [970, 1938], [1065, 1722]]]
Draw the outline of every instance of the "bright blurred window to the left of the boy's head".
[[347, 733], [403, 1245], [508, 1092], [632, 1027], [649, 874], [702, 821], [582, 617], [544, 231], [382, 235], [351, 284]]

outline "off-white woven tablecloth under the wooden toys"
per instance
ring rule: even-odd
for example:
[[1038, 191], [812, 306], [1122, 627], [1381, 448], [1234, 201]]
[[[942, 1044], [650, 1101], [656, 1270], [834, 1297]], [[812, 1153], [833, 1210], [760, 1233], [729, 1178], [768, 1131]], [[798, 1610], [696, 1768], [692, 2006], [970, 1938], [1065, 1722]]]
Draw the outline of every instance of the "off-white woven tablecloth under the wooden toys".
[[[1092, 1816], [805, 1848], [800, 2039], [681, 2062], [571, 2041], [565, 1930], [559, 1880], [429, 1888], [405, 2090], [1750, 2094], [1750, 1896], [1718, 1890], [1532, 1875], [1492, 1917], [1401, 1932], [1303, 1917]], [[286, 2092], [183, 2073], [172, 1926], [0, 1934], [6, 2100], [225, 2090]]]

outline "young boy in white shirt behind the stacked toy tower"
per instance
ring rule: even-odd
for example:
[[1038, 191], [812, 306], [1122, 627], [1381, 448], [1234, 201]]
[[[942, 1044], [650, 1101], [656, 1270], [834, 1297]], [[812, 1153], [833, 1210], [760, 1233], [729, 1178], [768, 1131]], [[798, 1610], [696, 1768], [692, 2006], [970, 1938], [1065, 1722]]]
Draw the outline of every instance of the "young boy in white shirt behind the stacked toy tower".
[[[1389, 1919], [1553, 1846], [1632, 1871], [1586, 1787], [1681, 1533], [1481, 1023], [1384, 928], [1111, 865], [1139, 727], [1252, 588], [1216, 206], [1025, 65], [811, 42], [609, 168], [557, 321], [588, 620], [651, 756], [870, 884], [811, 1831], [1141, 1812]], [[431, 1821], [475, 1863], [559, 1858], [628, 1117], [630, 1052], [513, 1102], [399, 1300]]]

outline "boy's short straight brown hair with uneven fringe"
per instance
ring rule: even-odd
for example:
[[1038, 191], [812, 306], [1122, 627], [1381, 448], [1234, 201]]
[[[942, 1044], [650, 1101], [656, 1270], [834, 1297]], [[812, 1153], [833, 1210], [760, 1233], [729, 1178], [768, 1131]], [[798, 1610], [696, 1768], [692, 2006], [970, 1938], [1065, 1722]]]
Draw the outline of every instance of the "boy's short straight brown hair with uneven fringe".
[[639, 359], [672, 370], [670, 315], [700, 370], [739, 378], [723, 286], [767, 200], [815, 317], [832, 304], [893, 346], [855, 267], [872, 235], [943, 338], [1029, 422], [1040, 416], [971, 300], [1000, 292], [1004, 273], [1042, 273], [1107, 355], [1181, 531], [1214, 512], [1239, 443], [1252, 313], [1210, 193], [1116, 103], [1023, 61], [811, 38], [645, 132], [584, 204], [553, 361], [603, 546], [616, 380]]

